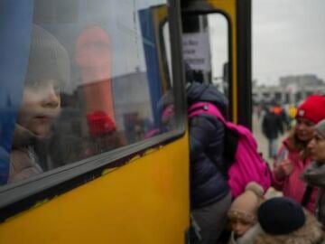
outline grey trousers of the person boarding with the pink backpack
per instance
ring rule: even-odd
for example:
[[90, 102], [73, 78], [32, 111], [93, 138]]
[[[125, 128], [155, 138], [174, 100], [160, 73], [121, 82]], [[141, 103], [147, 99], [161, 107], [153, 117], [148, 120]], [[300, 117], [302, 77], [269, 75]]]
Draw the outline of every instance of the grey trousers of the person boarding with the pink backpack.
[[224, 230], [227, 212], [231, 204], [231, 193], [218, 202], [198, 210], [191, 211], [191, 216], [199, 227], [200, 241], [198, 244], [216, 244]]

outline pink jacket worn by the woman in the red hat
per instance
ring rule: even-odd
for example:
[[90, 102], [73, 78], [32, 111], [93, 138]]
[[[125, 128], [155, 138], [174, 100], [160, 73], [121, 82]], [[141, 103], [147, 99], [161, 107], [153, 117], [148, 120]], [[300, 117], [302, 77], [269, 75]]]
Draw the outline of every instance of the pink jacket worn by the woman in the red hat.
[[[286, 176], [285, 178], [279, 180], [276, 179], [273, 172], [273, 185], [276, 190], [282, 191], [284, 196], [290, 197], [297, 202], [302, 202], [302, 197], [305, 192], [306, 183], [301, 180], [301, 174], [307, 165], [311, 164], [311, 158], [308, 158], [304, 163], [300, 156], [299, 151], [289, 150], [287, 147], [288, 140], [284, 140], [281, 146], [278, 156], [282, 155], [283, 150], [288, 150], [288, 158], [293, 164], [292, 174]], [[311, 212], [315, 211], [315, 203], [317, 200], [317, 189], [314, 188], [311, 192], [310, 201], [305, 206]]]

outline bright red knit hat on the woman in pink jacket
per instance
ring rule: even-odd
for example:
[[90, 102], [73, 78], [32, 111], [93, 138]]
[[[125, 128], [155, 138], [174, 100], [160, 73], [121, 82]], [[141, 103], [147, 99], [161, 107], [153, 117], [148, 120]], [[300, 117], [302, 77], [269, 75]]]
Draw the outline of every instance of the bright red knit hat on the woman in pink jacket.
[[315, 124], [325, 118], [325, 97], [321, 95], [311, 95], [299, 106], [296, 118], [303, 117], [311, 120]]

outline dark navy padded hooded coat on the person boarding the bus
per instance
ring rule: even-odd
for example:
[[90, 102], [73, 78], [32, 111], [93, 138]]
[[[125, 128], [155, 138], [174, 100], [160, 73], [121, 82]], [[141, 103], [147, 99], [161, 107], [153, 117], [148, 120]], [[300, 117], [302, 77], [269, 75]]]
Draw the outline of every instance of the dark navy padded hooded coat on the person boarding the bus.
[[[192, 83], [188, 104], [209, 101], [226, 113], [228, 101], [211, 85]], [[222, 174], [224, 163], [225, 126], [217, 117], [198, 115], [190, 119], [190, 202], [199, 209], [225, 197], [229, 192], [227, 178]], [[218, 166], [217, 166], [218, 164]]]

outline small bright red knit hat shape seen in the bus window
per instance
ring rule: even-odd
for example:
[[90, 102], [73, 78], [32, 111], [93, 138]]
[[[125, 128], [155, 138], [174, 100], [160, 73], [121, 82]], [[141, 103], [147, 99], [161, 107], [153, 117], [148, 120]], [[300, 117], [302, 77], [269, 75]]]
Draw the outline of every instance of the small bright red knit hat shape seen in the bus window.
[[87, 120], [91, 136], [101, 136], [116, 130], [115, 122], [103, 111], [89, 113]]

